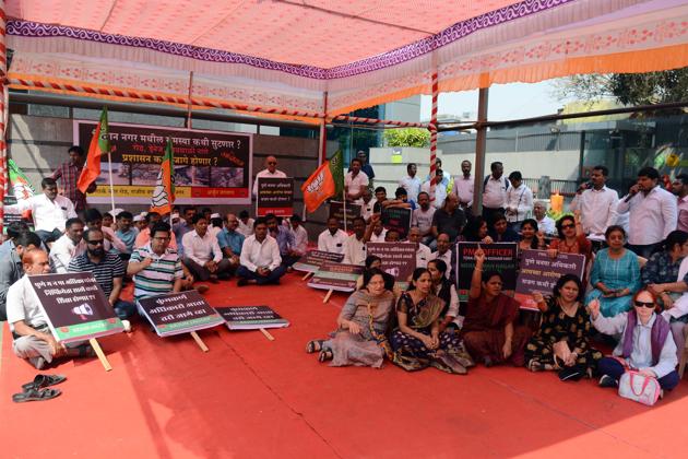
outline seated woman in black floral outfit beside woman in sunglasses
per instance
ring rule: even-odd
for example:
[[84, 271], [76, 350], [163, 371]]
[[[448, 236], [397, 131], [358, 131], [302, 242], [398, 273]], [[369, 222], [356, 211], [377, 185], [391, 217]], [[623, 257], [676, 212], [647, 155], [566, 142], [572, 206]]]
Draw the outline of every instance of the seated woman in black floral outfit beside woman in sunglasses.
[[589, 378], [595, 373], [602, 353], [590, 345], [592, 325], [583, 307], [583, 285], [576, 274], [564, 274], [546, 299], [533, 294], [543, 321], [525, 345], [531, 372], [558, 369], [561, 380]]

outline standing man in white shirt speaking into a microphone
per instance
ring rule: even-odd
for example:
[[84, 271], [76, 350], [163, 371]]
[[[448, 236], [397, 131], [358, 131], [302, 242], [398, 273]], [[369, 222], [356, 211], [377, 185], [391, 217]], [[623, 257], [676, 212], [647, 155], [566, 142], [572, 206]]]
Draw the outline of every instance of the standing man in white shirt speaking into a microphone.
[[619, 195], [605, 186], [609, 169], [606, 166], [595, 166], [590, 175], [590, 184], [582, 184], [576, 190], [571, 201], [571, 211], [581, 212], [583, 232], [601, 238], [618, 217], [617, 208]]

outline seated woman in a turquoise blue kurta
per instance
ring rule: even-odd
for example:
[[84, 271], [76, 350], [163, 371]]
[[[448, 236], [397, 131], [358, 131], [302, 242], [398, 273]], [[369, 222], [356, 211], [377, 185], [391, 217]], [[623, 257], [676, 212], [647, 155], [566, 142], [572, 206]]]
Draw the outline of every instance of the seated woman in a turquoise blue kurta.
[[638, 256], [624, 248], [626, 232], [612, 225], [604, 234], [607, 248], [597, 252], [593, 262], [590, 283], [593, 290], [585, 304], [600, 299], [604, 317], [614, 317], [631, 308], [633, 294], [640, 289], [640, 264]]

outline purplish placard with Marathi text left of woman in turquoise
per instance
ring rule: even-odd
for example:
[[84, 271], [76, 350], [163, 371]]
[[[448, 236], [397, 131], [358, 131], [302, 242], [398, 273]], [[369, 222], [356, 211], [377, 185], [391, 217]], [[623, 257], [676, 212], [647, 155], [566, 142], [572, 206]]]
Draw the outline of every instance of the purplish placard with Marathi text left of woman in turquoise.
[[584, 255], [559, 252], [557, 258], [551, 258], [545, 250], [523, 250], [514, 298], [522, 308], [537, 309], [532, 297], [534, 292], [551, 295], [559, 278], [576, 274], [582, 279], [584, 267]]

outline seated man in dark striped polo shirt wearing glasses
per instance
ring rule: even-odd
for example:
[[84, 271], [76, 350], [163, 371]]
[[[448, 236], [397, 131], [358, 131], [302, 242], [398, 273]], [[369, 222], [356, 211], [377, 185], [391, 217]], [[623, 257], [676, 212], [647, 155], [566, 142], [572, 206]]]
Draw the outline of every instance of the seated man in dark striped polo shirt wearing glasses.
[[117, 317], [122, 320], [130, 318], [135, 311], [134, 305], [119, 298], [124, 279], [124, 263], [118, 255], [105, 251], [105, 237], [100, 229], [86, 231], [84, 240], [86, 252], [72, 258], [68, 271], [93, 272]]

